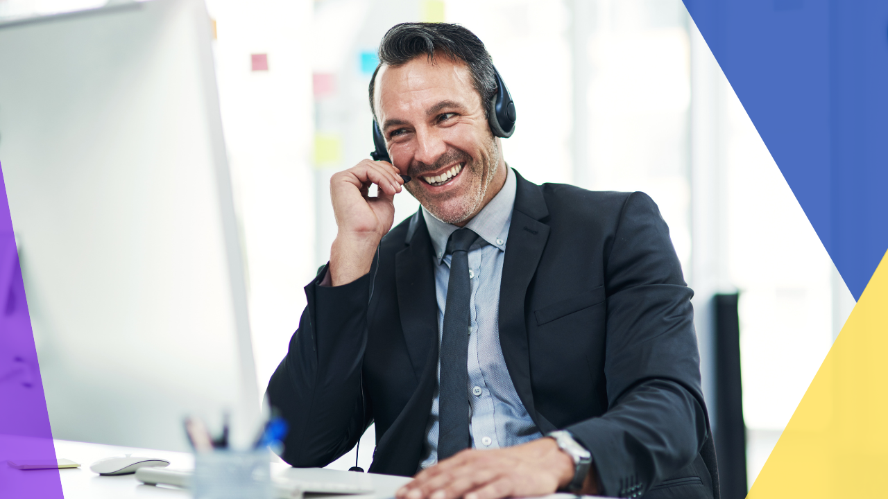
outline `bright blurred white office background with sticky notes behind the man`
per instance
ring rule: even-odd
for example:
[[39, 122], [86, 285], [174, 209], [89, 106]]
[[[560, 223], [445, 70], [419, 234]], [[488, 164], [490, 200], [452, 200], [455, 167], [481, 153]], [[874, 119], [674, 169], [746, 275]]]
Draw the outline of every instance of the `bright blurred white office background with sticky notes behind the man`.
[[[0, 16], [99, 4], [0, 0]], [[335, 237], [329, 176], [372, 148], [378, 40], [401, 21], [459, 22], [488, 45], [516, 100], [518, 131], [503, 141], [511, 167], [535, 182], [641, 190], [659, 204], [696, 291], [708, 398], [710, 300], [739, 291], [751, 485], [854, 301], [679, 0], [207, 6], [260, 385]], [[416, 207], [398, 196], [396, 219]], [[372, 440], [361, 446], [365, 467]]]

